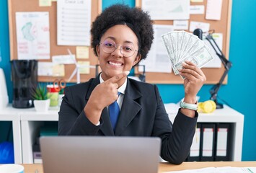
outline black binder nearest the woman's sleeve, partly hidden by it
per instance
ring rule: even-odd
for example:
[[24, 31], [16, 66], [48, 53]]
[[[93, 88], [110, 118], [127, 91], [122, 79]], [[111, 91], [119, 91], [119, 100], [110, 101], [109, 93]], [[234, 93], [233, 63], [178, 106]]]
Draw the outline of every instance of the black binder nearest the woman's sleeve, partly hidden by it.
[[187, 161], [200, 161], [200, 134], [201, 123], [196, 125], [195, 135], [193, 137], [192, 145], [190, 147], [190, 154], [187, 156]]

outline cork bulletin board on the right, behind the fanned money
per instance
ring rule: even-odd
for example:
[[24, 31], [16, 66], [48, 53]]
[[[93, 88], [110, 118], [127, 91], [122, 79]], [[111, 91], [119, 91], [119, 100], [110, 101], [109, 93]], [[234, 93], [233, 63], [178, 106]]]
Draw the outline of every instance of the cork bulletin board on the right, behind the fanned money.
[[[136, 0], [136, 6], [141, 7], [141, 1]], [[216, 33], [223, 34], [222, 52], [229, 59], [229, 37], [230, 37], [230, 26], [231, 26], [231, 0], [224, 0], [222, 2], [221, 19], [220, 20], [209, 20], [205, 18], [207, 0], [203, 2], [190, 2], [190, 5], [203, 5], [205, 6], [204, 14], [190, 14], [190, 21], [195, 22], [206, 22], [210, 24], [210, 30], [214, 30]], [[173, 25], [173, 20], [154, 20], [156, 25]], [[189, 32], [188, 30], [185, 30]], [[204, 74], [206, 74], [206, 84], [216, 84], [224, 74], [225, 68], [221, 64], [221, 68], [202, 68]], [[146, 72], [146, 82], [154, 84], [182, 84], [183, 80], [179, 75], [175, 75], [173, 72], [168, 73], [154, 73]], [[224, 79], [224, 83], [227, 83], [227, 77]]]

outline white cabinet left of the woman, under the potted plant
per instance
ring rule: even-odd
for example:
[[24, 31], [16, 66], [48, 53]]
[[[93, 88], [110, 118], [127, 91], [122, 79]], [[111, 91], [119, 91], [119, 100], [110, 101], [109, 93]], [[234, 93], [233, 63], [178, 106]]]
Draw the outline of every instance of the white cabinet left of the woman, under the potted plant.
[[8, 105], [0, 112], [0, 121], [12, 121], [15, 164], [32, 164], [32, 145], [43, 121], [58, 121], [58, 107], [47, 112], [36, 112], [35, 108], [17, 109]]

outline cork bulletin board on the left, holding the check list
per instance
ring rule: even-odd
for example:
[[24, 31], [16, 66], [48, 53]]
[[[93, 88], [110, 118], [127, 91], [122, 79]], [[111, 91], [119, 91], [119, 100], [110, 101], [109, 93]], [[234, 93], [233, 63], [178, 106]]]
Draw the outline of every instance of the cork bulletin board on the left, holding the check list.
[[[57, 1], [52, 1], [51, 6], [39, 6], [38, 0], [8, 0], [9, 8], [9, 37], [10, 37], [10, 59], [17, 59], [17, 32], [16, 32], [16, 12], [49, 12], [50, 27], [50, 59], [38, 60], [40, 62], [51, 62], [52, 56], [67, 55], [67, 49], [76, 55], [76, 46], [73, 45], [57, 45]], [[92, 0], [92, 22], [98, 14], [102, 12], [102, 0]], [[97, 57], [94, 56], [93, 50], [89, 47], [88, 59], [76, 59], [76, 61], [89, 61], [90, 66], [98, 63]], [[65, 76], [61, 77], [68, 81], [72, 72], [76, 68], [74, 64], [65, 64]], [[81, 81], [88, 81], [95, 76], [95, 68], [89, 68], [89, 74], [81, 74]], [[38, 76], [38, 81], [54, 81], [56, 76]], [[70, 82], [76, 82], [76, 75]]]

